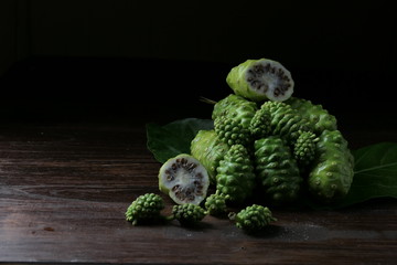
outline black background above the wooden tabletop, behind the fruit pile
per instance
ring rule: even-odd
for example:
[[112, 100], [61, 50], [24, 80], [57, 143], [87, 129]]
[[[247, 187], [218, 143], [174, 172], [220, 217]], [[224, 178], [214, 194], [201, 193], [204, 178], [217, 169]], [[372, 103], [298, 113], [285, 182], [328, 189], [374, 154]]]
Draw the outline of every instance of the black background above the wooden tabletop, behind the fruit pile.
[[396, 126], [389, 1], [2, 1], [0, 110], [10, 123], [210, 118], [247, 59], [342, 126]]

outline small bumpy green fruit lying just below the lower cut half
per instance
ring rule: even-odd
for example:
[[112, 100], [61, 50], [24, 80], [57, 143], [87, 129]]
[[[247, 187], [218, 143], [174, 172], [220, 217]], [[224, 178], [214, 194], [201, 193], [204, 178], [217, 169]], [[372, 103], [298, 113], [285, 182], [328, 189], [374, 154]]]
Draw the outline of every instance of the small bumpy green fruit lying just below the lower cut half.
[[174, 205], [172, 214], [183, 226], [192, 226], [205, 218], [204, 209], [192, 203]]

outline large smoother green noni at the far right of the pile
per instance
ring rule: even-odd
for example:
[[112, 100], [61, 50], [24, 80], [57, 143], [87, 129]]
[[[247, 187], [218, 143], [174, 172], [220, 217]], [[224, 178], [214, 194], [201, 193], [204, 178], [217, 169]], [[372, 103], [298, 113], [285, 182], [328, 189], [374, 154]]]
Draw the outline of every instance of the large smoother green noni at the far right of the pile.
[[340, 130], [324, 130], [316, 144], [309, 191], [324, 202], [345, 197], [354, 176], [354, 157]]

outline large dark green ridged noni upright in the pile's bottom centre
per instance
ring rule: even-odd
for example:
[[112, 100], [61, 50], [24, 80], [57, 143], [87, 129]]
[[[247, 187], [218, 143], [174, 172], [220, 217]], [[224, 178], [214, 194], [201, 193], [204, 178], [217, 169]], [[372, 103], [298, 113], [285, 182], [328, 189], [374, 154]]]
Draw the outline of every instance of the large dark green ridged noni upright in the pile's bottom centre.
[[278, 136], [255, 141], [255, 165], [265, 197], [275, 204], [298, 198], [303, 179], [290, 148]]

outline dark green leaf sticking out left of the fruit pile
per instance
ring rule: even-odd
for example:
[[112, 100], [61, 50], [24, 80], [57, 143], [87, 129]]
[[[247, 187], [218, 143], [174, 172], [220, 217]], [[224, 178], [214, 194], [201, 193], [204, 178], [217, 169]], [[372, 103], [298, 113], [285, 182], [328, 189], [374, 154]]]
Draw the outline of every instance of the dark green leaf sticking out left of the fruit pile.
[[185, 118], [164, 126], [147, 124], [147, 146], [155, 160], [163, 163], [180, 153], [190, 153], [190, 146], [197, 131], [213, 129], [212, 119]]

